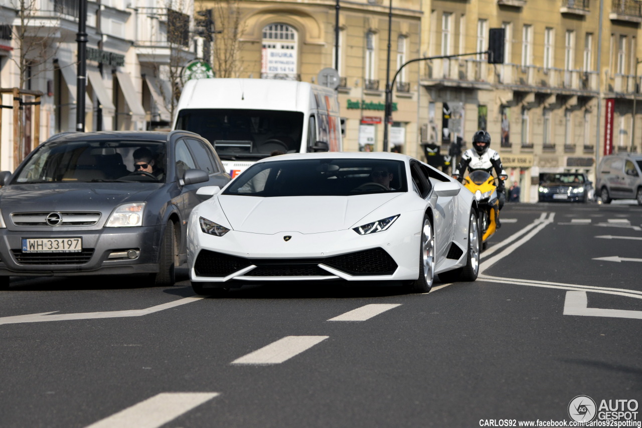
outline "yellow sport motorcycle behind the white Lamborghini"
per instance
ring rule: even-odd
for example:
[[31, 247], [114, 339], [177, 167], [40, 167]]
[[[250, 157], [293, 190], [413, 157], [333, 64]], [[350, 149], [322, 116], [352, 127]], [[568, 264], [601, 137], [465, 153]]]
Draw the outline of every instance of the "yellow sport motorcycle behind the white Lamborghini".
[[496, 219], [499, 214], [499, 195], [495, 177], [478, 169], [464, 178], [464, 187], [475, 195], [480, 207], [480, 230], [482, 230], [482, 249], [487, 247], [488, 239], [497, 230]]

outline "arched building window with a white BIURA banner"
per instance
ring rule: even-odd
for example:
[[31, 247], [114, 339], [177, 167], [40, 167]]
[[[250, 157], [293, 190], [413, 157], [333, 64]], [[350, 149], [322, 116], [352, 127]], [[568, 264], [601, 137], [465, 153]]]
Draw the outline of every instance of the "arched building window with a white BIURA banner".
[[298, 80], [299, 60], [297, 31], [288, 24], [270, 24], [263, 28], [261, 77]]

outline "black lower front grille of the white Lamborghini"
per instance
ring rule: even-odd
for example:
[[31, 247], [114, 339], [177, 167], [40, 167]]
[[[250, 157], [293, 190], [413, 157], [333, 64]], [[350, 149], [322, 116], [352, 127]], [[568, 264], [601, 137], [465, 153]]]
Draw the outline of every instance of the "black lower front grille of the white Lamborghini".
[[257, 266], [249, 277], [328, 276], [319, 268], [324, 264], [349, 275], [392, 275], [397, 264], [383, 248], [335, 255], [325, 259], [245, 259], [223, 253], [202, 250], [196, 257], [194, 270], [199, 277], [227, 277], [247, 266]]

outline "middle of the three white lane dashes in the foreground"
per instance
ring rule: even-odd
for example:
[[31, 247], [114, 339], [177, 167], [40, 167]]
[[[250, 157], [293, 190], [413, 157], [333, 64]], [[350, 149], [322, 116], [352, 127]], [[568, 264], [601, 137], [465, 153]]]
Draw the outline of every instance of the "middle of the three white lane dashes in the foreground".
[[329, 336], [286, 336], [235, 359], [232, 364], [279, 364], [317, 345]]

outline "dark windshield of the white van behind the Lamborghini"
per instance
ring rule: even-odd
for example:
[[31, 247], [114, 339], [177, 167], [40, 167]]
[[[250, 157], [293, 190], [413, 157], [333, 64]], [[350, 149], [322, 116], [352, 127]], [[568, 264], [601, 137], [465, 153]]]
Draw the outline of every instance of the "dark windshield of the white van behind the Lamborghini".
[[184, 109], [178, 112], [176, 129], [202, 135], [214, 146], [221, 159], [257, 160], [270, 156], [275, 150], [283, 153], [300, 151], [303, 113]]

